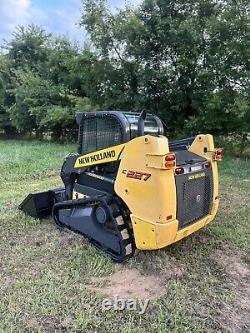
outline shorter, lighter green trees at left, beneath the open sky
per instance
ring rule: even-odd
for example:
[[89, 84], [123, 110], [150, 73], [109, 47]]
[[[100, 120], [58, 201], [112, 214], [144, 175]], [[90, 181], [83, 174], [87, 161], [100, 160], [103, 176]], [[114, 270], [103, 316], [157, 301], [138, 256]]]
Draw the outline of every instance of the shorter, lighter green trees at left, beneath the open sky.
[[[82, 91], [75, 66], [77, 45], [32, 25], [18, 27], [5, 47], [6, 55], [0, 58], [0, 128], [5, 129], [9, 120], [20, 134], [74, 136], [75, 113], [96, 108]], [[11, 103], [6, 103], [6, 96]]]

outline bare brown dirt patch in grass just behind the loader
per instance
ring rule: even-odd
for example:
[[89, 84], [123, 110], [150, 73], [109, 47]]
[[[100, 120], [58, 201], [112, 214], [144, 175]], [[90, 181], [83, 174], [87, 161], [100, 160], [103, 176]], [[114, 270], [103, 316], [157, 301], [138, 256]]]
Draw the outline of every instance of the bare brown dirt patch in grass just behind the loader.
[[[157, 299], [164, 292], [163, 280], [160, 277], [143, 275], [135, 268], [118, 267], [114, 274], [92, 278], [91, 283], [87, 286], [88, 289], [122, 299]], [[103, 285], [97, 287], [96, 283]]]

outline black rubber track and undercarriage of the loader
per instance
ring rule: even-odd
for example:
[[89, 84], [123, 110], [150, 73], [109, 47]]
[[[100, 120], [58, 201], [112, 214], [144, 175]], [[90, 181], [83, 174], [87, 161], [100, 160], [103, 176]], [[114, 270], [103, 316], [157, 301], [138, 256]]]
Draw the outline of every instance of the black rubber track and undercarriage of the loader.
[[58, 196], [50, 191], [33, 194], [31, 201], [41, 202], [46, 196], [47, 203], [51, 205], [53, 197], [54, 202], [37, 211], [37, 217], [52, 210], [53, 220], [60, 229], [67, 228], [83, 235], [114, 261], [122, 262], [134, 254], [129, 211], [118, 198], [100, 195], [57, 202]]

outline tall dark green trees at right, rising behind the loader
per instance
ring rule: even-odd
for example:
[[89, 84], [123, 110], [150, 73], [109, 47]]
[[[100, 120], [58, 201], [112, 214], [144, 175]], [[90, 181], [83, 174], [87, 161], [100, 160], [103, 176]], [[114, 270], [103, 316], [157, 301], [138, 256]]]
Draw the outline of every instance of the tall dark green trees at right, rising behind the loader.
[[[207, 112], [207, 103], [218, 96], [248, 98], [247, 1], [144, 0], [136, 9], [113, 13], [104, 0], [84, 0], [83, 5], [81, 25], [98, 60], [109, 64], [100, 81], [111, 107], [115, 100], [156, 112], [178, 132], [201, 114], [208, 124], [217, 113], [211, 111], [213, 103]], [[233, 119], [236, 104], [232, 98], [224, 101], [218, 122], [228, 118], [227, 112]], [[226, 125], [221, 126], [224, 133], [233, 130], [234, 121]]]

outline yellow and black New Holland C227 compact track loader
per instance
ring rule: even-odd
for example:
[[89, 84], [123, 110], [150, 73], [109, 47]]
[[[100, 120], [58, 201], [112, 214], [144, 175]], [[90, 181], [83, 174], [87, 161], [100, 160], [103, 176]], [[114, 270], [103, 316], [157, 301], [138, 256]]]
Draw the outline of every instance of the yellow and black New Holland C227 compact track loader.
[[20, 209], [82, 234], [122, 262], [135, 248], [170, 245], [210, 223], [217, 212], [212, 135], [175, 142], [145, 112], [79, 113], [79, 148], [61, 168], [63, 188], [29, 194]]

